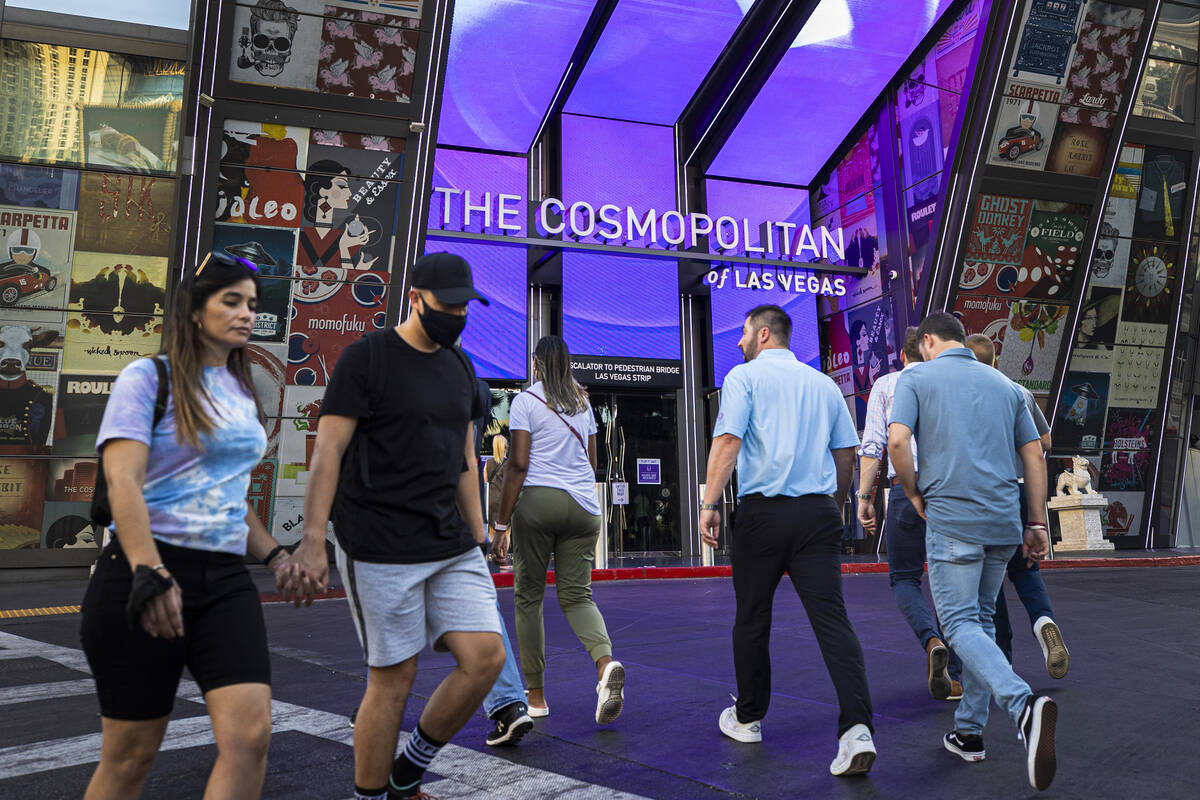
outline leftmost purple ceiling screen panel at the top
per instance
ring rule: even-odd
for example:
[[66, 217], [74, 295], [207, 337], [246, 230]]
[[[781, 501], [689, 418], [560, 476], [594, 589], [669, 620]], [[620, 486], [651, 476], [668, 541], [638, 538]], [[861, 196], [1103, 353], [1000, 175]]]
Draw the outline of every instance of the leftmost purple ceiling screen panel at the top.
[[584, 0], [456, 2], [438, 142], [529, 150], [592, 6]]

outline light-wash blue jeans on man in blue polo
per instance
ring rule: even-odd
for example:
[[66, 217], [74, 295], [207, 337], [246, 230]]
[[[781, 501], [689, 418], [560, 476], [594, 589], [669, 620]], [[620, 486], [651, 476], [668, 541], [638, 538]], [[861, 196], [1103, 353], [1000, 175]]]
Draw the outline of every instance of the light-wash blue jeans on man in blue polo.
[[954, 712], [954, 729], [982, 735], [992, 698], [1016, 724], [1033, 692], [1004, 660], [992, 622], [1013, 546], [972, 545], [926, 530], [925, 549], [942, 630], [962, 660], [962, 700]]

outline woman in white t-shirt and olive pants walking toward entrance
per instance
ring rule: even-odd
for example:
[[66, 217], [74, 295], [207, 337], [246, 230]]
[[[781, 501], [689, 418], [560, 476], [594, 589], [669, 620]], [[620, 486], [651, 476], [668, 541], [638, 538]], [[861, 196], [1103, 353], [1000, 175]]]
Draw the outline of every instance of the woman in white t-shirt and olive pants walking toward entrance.
[[600, 535], [595, 417], [587, 392], [571, 375], [570, 353], [560, 337], [538, 342], [534, 378], [536, 383], [517, 395], [509, 409], [512, 446], [492, 548], [500, 558], [508, 552], [511, 519], [520, 543], [512, 552], [512, 569], [529, 716], [550, 714], [541, 606], [546, 566], [553, 555], [558, 604], [595, 661], [596, 722], [608, 724], [624, 706], [625, 668], [612, 658], [604, 616], [592, 600], [592, 565]]

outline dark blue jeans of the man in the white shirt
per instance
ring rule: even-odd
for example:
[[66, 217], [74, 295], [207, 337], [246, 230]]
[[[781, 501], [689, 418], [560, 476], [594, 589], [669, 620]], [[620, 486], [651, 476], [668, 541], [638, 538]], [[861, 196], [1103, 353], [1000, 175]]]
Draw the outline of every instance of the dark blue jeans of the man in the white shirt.
[[[905, 621], [924, 648], [932, 637], [942, 638], [942, 632], [920, 591], [920, 579], [925, 575], [925, 521], [913, 510], [912, 501], [900, 486], [893, 486], [888, 493], [883, 536], [888, 546], [892, 594], [895, 595]], [[953, 649], [948, 672], [953, 680], [961, 680], [962, 662]]]

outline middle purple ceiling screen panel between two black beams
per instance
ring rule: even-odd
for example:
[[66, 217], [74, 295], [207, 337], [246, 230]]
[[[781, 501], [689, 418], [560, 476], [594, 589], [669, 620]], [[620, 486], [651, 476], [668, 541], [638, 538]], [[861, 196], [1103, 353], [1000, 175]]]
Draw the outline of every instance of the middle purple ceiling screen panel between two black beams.
[[566, 110], [674, 125], [749, 7], [737, 0], [622, 0]]

